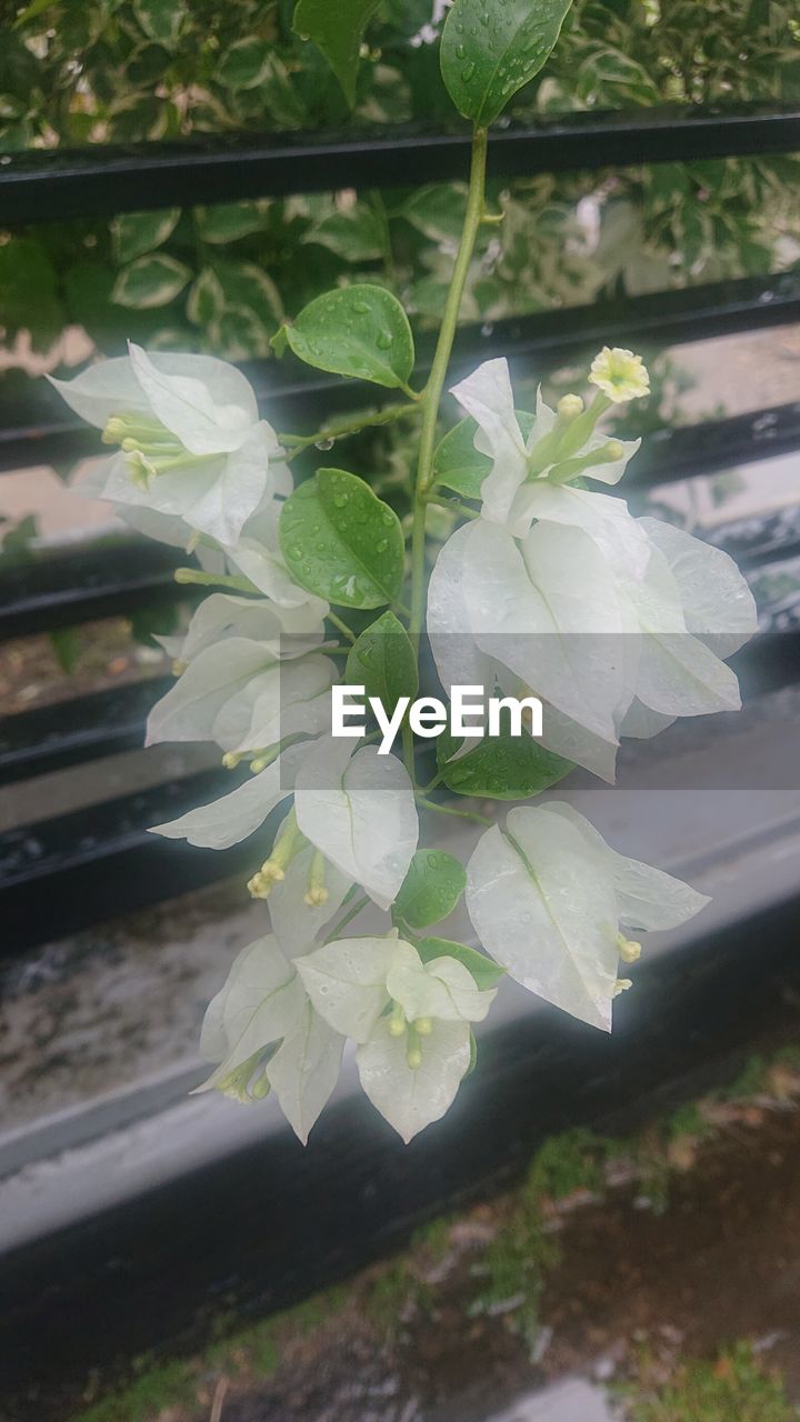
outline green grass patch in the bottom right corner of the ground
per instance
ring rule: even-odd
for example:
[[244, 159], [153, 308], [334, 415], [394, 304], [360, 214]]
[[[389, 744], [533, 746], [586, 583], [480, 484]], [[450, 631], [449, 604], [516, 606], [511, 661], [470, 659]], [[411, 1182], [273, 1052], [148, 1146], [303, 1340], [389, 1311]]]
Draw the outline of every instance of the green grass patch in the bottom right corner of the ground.
[[656, 1396], [633, 1405], [631, 1422], [797, 1422], [797, 1411], [780, 1378], [737, 1344], [716, 1362], [680, 1367]]

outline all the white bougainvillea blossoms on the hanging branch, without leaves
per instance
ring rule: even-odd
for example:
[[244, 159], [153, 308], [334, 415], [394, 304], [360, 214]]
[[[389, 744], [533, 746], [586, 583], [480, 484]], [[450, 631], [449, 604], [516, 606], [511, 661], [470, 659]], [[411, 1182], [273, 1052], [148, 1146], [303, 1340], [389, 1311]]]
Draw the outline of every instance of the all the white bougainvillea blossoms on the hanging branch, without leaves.
[[[605, 351], [592, 367], [608, 400], [646, 390], [638, 357], [619, 356]], [[272, 934], [243, 948], [208, 1008], [201, 1048], [216, 1068], [201, 1089], [242, 1101], [272, 1089], [305, 1140], [352, 1039], [367, 1096], [409, 1140], [448, 1109], [470, 1068], [471, 1024], [497, 990], [446, 951], [423, 957], [423, 940], [396, 930], [317, 940], [356, 886], [391, 907], [419, 823], [399, 759], [327, 734], [340, 668], [326, 651], [327, 603], [295, 583], [280, 556], [292, 478], [278, 438], [243, 375], [208, 357], [131, 347], [56, 384], [120, 445], [93, 491], [140, 530], [262, 594], [212, 593], [184, 637], [162, 638], [179, 675], [148, 722], [149, 744], [216, 742], [225, 764], [245, 758], [252, 772], [158, 833], [223, 849], [293, 796], [251, 880], [256, 897], [269, 896]], [[537, 451], [549, 448], [561, 415], [540, 400], [524, 439], [505, 361], [483, 365], [456, 395], [493, 466], [481, 516], [446, 543], [431, 577], [428, 630], [444, 684], [535, 691], [545, 745], [606, 779], [619, 735], [737, 705], [720, 657], [750, 636], [754, 613], [730, 560], [569, 482], [572, 466], [616, 482], [636, 445], [609, 449], [589, 431], [554, 478]], [[638, 953], [621, 930], [672, 927], [703, 903], [616, 855], [562, 803], [512, 809], [467, 866], [467, 907], [485, 950], [531, 991], [602, 1028], [628, 985], [619, 960]]]

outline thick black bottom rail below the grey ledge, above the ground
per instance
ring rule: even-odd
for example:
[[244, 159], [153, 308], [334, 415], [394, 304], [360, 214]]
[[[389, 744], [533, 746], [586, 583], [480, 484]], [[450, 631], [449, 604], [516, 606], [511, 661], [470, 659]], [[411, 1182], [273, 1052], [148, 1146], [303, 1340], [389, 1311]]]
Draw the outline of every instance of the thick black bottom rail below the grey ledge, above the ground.
[[642, 963], [612, 1037], [547, 1007], [488, 1032], [450, 1113], [409, 1146], [353, 1096], [306, 1148], [265, 1133], [7, 1254], [4, 1416], [30, 1422], [33, 1402], [37, 1422], [63, 1422], [87, 1382], [141, 1354], [219, 1341], [221, 1301], [233, 1328], [263, 1318], [508, 1183], [545, 1138], [619, 1136], [733, 1079], [753, 1044], [796, 1034], [799, 914], [799, 897], [780, 902]]

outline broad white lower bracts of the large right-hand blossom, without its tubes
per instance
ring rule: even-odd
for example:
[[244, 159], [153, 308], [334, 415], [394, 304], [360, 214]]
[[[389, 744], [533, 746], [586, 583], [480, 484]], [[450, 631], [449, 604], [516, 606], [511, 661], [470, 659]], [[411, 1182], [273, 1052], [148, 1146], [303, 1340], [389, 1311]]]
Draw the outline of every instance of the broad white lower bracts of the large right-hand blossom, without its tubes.
[[542, 745], [609, 781], [621, 735], [737, 710], [720, 658], [757, 616], [732, 559], [621, 499], [544, 481], [522, 492], [541, 513], [530, 533], [478, 519], [441, 549], [428, 631], [444, 685], [535, 693]]

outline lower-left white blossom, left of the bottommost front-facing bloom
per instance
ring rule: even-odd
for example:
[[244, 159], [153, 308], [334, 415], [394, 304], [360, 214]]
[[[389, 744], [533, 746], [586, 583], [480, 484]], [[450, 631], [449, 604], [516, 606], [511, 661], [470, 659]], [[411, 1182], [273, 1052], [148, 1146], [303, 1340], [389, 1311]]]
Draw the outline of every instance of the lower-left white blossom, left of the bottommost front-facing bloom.
[[219, 1065], [198, 1089], [260, 1101], [272, 1088], [305, 1145], [339, 1078], [343, 1047], [278, 940], [259, 939], [242, 948], [208, 1007], [201, 1054]]

